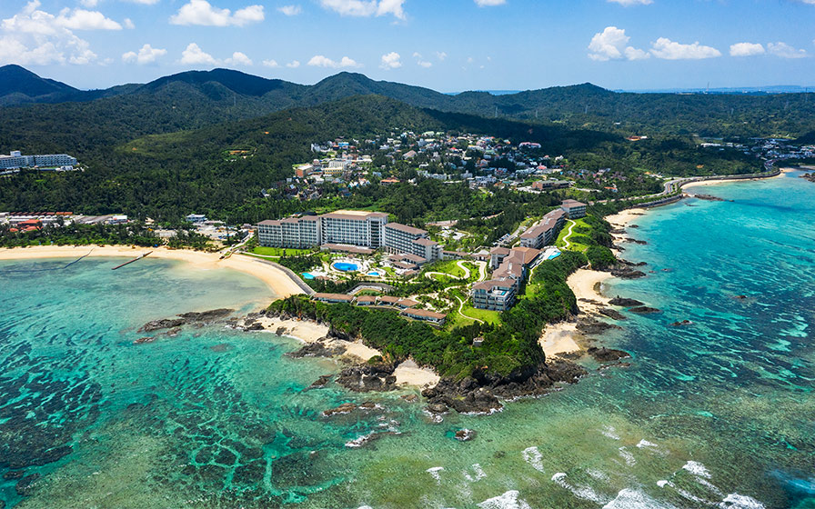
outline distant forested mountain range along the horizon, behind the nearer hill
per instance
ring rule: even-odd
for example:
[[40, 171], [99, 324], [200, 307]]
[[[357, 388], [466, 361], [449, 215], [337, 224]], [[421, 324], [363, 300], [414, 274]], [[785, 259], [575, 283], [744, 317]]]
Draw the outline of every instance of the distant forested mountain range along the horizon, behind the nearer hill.
[[[14, 76], [23, 74], [30, 88], [15, 85], [19, 79]], [[445, 95], [346, 72], [316, 85], [297, 85], [226, 69], [190, 71], [146, 85], [83, 92], [16, 65], [0, 67], [0, 105], [63, 102], [15, 107], [6, 116], [34, 123], [50, 117], [68, 124], [79, 115], [91, 115], [113, 127], [116, 131], [109, 135], [117, 141], [320, 105], [352, 95], [386, 95], [439, 111], [536, 124], [555, 122], [622, 135], [796, 137], [815, 131], [815, 98], [810, 101], [810, 94], [631, 94], [583, 84], [511, 95]], [[15, 141], [3, 134], [0, 144]]]

